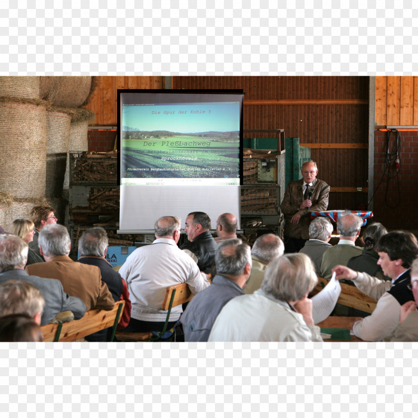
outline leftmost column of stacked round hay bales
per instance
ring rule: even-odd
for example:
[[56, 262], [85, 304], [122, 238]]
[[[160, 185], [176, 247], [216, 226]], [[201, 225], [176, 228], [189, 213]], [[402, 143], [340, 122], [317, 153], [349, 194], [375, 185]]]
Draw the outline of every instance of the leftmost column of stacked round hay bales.
[[0, 77], [0, 224], [45, 203], [46, 105], [39, 77]]

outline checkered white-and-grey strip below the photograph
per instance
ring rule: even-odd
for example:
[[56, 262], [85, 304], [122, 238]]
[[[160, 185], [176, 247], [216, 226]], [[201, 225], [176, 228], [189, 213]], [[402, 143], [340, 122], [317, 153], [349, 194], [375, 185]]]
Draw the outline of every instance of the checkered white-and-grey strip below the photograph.
[[412, 343], [3, 343], [0, 351], [7, 418], [408, 418], [418, 407]]

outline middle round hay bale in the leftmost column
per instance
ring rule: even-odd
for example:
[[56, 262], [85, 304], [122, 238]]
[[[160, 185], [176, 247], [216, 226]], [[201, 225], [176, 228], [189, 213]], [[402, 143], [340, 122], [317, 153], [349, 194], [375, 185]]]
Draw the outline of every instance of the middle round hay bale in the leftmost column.
[[0, 187], [13, 198], [45, 193], [46, 110], [42, 105], [0, 102]]

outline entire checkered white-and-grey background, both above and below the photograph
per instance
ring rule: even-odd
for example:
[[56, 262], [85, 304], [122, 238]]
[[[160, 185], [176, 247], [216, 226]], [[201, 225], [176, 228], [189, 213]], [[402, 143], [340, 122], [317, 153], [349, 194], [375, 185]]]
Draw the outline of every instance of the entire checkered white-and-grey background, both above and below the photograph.
[[[417, 17], [412, 0], [3, 0], [0, 76], [414, 75]], [[408, 418], [417, 348], [2, 343], [0, 416]]]

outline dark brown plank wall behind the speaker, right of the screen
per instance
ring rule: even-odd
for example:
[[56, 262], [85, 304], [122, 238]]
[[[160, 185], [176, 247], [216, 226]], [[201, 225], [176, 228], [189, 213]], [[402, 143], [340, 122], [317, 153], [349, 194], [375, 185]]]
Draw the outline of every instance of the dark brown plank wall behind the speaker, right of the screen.
[[[336, 190], [368, 186], [368, 77], [173, 77], [172, 85], [243, 89], [244, 130], [284, 129], [286, 137], [299, 137], [313, 148], [318, 178], [334, 190], [328, 208], [366, 207], [367, 193]], [[273, 135], [244, 132], [244, 136]]]

